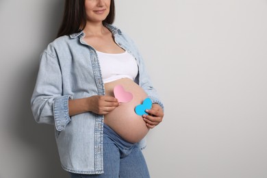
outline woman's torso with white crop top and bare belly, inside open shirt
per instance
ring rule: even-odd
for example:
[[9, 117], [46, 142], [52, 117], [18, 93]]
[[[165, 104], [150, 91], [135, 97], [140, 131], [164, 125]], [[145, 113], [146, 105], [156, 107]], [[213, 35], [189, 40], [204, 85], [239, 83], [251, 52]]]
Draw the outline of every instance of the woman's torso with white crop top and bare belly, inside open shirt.
[[[117, 85], [123, 86], [127, 92], [133, 94], [133, 99], [129, 103], [120, 103], [115, 110], [106, 114], [104, 123], [128, 142], [139, 142], [149, 129], [142, 116], [134, 112], [136, 105], [140, 105], [147, 98], [144, 90], [133, 81], [138, 74], [136, 59], [114, 42], [108, 29], [102, 38], [86, 35], [84, 41], [97, 50], [105, 95], [114, 97], [114, 87]], [[131, 79], [125, 78], [127, 75], [131, 75]]]

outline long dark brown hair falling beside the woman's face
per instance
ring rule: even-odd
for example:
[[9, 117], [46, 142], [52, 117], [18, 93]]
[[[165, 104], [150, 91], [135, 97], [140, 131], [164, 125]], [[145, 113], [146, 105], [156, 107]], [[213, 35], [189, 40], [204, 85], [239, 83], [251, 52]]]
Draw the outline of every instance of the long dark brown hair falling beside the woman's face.
[[[66, 0], [64, 15], [60, 29], [58, 30], [58, 37], [70, 35], [82, 31], [86, 27], [86, 0]], [[110, 14], [103, 23], [112, 24], [115, 18], [114, 0], [110, 0]]]

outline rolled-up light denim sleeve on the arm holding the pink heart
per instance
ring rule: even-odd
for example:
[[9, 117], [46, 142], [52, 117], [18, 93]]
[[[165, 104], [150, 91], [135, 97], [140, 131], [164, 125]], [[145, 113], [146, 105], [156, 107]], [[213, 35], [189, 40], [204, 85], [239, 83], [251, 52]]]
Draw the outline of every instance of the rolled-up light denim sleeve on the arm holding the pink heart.
[[55, 129], [62, 131], [71, 121], [68, 114], [69, 99], [73, 97], [62, 94], [62, 72], [58, 58], [44, 51], [31, 97], [34, 119], [37, 123], [55, 125]]

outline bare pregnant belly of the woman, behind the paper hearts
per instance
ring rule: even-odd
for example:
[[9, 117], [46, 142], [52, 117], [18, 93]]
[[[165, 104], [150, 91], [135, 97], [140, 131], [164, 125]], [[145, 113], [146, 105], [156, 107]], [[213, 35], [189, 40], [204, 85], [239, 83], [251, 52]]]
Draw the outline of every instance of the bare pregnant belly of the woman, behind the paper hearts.
[[138, 116], [134, 108], [147, 98], [147, 94], [131, 79], [118, 79], [105, 84], [106, 96], [114, 97], [113, 90], [116, 85], [121, 85], [125, 91], [131, 92], [133, 99], [129, 103], [120, 103], [115, 110], [106, 114], [104, 123], [128, 142], [139, 142], [147, 135], [149, 129], [142, 116]]

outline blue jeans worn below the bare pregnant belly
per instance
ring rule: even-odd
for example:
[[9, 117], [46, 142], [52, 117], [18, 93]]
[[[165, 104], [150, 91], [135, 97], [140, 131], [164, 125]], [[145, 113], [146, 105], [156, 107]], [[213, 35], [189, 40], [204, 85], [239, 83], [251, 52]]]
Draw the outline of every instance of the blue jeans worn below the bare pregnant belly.
[[149, 170], [142, 151], [129, 143], [104, 124], [103, 131], [104, 173], [81, 175], [71, 173], [71, 178], [149, 178]]

